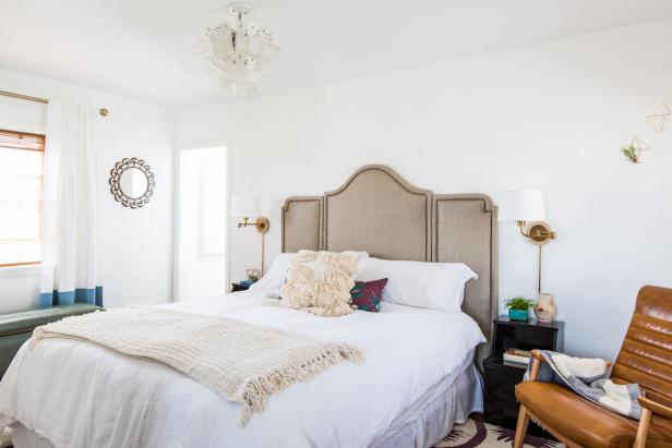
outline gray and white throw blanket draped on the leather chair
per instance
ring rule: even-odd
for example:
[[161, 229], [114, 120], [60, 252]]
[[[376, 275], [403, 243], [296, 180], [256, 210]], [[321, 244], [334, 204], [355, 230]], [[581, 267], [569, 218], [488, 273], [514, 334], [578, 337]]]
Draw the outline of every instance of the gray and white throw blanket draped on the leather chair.
[[[637, 384], [615, 384], [608, 379], [603, 360], [573, 358], [550, 350], [541, 350], [541, 355], [545, 363], [541, 363], [538, 382], [566, 386], [588, 401], [639, 420], [641, 408], [637, 397], [644, 397], [644, 391]], [[526, 380], [530, 368], [531, 363], [525, 374]]]

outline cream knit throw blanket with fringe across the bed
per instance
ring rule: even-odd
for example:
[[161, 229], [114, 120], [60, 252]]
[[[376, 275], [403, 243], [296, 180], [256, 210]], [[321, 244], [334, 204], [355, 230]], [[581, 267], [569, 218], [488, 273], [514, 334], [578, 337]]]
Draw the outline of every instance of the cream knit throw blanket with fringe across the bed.
[[37, 327], [44, 338], [73, 338], [156, 361], [240, 403], [239, 426], [266, 409], [267, 397], [341, 361], [360, 363], [362, 352], [240, 320], [154, 307], [96, 312]]

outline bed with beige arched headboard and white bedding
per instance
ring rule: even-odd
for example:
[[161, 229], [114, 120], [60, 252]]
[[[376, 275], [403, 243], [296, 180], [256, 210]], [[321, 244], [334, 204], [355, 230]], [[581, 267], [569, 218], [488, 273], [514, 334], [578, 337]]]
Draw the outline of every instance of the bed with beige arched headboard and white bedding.
[[380, 313], [326, 318], [262, 291], [163, 305], [364, 351], [361, 365], [338, 364], [273, 396], [244, 428], [236, 403], [190, 377], [69, 339], [21, 349], [0, 384], [0, 425], [12, 424], [16, 448], [431, 446], [482, 408], [477, 366], [496, 311], [495, 215], [484, 195], [436, 195], [383, 166], [361, 168], [323, 196], [291, 197], [281, 210], [285, 252], [466, 263], [479, 278], [464, 313], [383, 303]]

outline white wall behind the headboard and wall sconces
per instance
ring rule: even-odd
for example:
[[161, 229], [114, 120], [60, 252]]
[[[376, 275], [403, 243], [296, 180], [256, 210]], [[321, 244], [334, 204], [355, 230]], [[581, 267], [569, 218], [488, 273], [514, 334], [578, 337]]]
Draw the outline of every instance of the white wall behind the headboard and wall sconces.
[[[611, 358], [638, 288], [672, 286], [672, 126], [658, 135], [644, 118], [657, 99], [660, 28], [640, 26], [638, 43], [634, 29], [190, 108], [178, 138], [230, 140], [230, 190], [263, 198], [269, 258], [284, 198], [333, 190], [364, 164], [436, 193], [542, 189], [559, 235], [543, 247], [543, 289], [566, 320], [565, 348]], [[671, 80], [670, 46], [667, 58]], [[619, 154], [633, 133], [633, 66], [639, 133], [655, 148], [639, 166]], [[254, 232], [231, 229], [232, 279], [259, 266], [259, 244]], [[513, 222], [500, 225], [500, 293], [536, 293], [536, 247]]]

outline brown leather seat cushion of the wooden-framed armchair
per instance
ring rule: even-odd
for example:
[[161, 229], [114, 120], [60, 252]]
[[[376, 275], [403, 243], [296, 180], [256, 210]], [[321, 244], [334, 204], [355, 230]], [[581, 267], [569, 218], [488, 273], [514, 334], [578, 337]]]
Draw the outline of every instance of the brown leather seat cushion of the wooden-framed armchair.
[[[526, 382], [516, 399], [549, 429], [584, 447], [631, 448], [638, 421], [615, 414], [580, 398], [566, 387]], [[672, 422], [653, 415], [647, 448], [672, 446]]]

